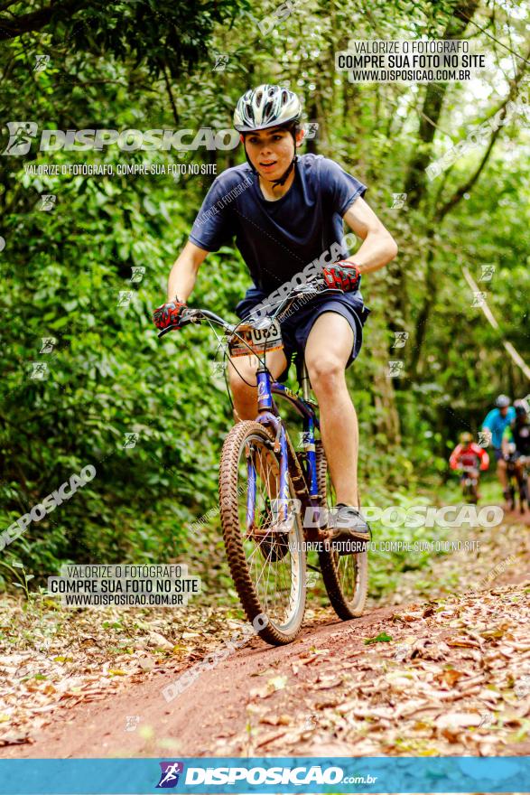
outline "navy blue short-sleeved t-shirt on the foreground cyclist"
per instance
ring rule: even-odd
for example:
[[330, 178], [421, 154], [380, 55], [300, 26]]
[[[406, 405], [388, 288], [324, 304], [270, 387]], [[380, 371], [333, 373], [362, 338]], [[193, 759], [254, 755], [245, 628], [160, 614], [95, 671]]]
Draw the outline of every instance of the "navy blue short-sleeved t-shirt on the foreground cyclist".
[[366, 190], [333, 160], [302, 154], [289, 191], [267, 201], [250, 166], [237, 165], [212, 183], [190, 239], [218, 251], [235, 236], [256, 287], [269, 294], [342, 242], [342, 216]]

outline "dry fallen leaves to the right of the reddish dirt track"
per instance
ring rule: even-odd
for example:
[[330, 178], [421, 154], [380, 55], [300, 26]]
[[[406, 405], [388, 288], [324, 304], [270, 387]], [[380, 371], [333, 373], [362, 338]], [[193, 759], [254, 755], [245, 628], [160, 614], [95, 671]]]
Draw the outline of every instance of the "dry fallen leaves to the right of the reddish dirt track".
[[[419, 610], [401, 624], [388, 620], [392, 642], [366, 646], [355, 622], [347, 624], [342, 648], [364, 650], [349, 655], [347, 669], [332, 644], [327, 656], [300, 652], [291, 663], [297, 676], [280, 691], [269, 687], [265, 703], [250, 693], [245, 734], [219, 739], [215, 753], [321, 755], [335, 746], [348, 755], [514, 753], [507, 746], [530, 730], [530, 581], [432, 608], [426, 619]], [[384, 634], [385, 622], [375, 629]]]

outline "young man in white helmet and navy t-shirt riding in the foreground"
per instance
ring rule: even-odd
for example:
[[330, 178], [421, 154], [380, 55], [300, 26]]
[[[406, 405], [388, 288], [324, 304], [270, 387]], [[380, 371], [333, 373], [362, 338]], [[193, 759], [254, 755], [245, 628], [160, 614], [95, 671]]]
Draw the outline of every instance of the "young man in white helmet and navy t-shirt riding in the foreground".
[[[384, 267], [397, 246], [362, 198], [362, 182], [327, 157], [297, 156], [301, 117], [299, 98], [281, 86], [261, 85], [239, 98], [234, 126], [246, 163], [228, 168], [211, 185], [172, 267], [168, 303], [153, 319], [161, 329], [178, 322], [200, 264], [234, 236], [254, 282], [237, 304], [241, 319], [304, 267], [319, 263], [326, 282], [344, 293], [317, 295], [290, 314], [282, 323], [284, 351], [270, 351], [266, 364], [274, 379], [285, 380], [293, 352], [305, 357], [338, 500], [330, 538], [367, 540], [369, 528], [358, 510], [358, 421], [345, 370], [358, 356], [369, 312], [359, 292], [361, 275]], [[353, 257], [344, 246], [343, 220], [362, 240]], [[250, 385], [256, 385], [256, 357], [240, 357], [236, 366], [229, 361], [235, 418], [255, 419], [256, 387]]]

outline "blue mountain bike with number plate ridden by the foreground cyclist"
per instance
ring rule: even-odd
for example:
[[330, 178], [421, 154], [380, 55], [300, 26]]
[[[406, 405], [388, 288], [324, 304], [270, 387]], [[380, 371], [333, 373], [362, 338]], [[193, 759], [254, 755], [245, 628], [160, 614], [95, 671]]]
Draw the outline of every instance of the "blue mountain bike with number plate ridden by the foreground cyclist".
[[[323, 287], [323, 288], [322, 288]], [[260, 321], [227, 323], [207, 309], [188, 308], [178, 326], [209, 323], [225, 335], [225, 360], [254, 354], [258, 413], [237, 423], [223, 444], [219, 465], [219, 511], [228, 566], [250, 622], [266, 621], [258, 634], [268, 643], [290, 643], [302, 628], [306, 603], [307, 552], [318, 553], [326, 592], [343, 621], [363, 613], [367, 598], [367, 545], [352, 541], [350, 554], [334, 548], [326, 530], [332, 526], [334, 491], [319, 431], [318, 407], [311, 399], [305, 362], [297, 367], [294, 392], [274, 380], [266, 352], [283, 347], [277, 318], [302, 295], [339, 293], [321, 279], [299, 285]], [[218, 338], [219, 339], [219, 338]], [[222, 341], [221, 341], [222, 344]], [[226, 371], [225, 371], [226, 379]], [[228, 388], [228, 381], [227, 381]], [[229, 394], [229, 393], [228, 393]], [[286, 401], [302, 422], [302, 450], [296, 450], [276, 400]], [[260, 625], [261, 625], [260, 623]]]

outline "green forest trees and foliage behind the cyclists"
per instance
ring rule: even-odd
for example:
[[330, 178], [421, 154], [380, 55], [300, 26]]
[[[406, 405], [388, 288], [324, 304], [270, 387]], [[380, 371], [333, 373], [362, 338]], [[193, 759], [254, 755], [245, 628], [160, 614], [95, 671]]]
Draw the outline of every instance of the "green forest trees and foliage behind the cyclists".
[[[367, 201], [400, 248], [391, 267], [366, 279], [372, 313], [349, 370], [364, 493], [385, 500], [395, 489], [435, 488], [459, 432], [477, 431], [496, 394], [530, 391], [502, 347], [506, 339], [523, 356], [529, 351], [528, 4], [305, 0], [263, 35], [258, 23], [276, 8], [263, 0], [5, 4], [2, 122], [33, 120], [39, 130], [227, 129], [248, 86], [297, 90], [306, 119], [319, 125], [304, 151], [332, 157], [367, 184]], [[448, 32], [472, 39], [495, 70], [470, 85], [354, 85], [334, 67], [335, 51], [352, 37]], [[35, 70], [37, 56], [49, 57], [45, 69]], [[521, 112], [428, 182], [424, 164], [508, 98]], [[3, 149], [6, 142], [4, 127]], [[158, 341], [151, 322], [213, 175], [39, 176], [27, 168], [193, 163], [220, 173], [243, 156], [240, 147], [39, 153], [35, 145], [23, 157], [0, 156], [1, 528], [72, 472], [97, 469], [5, 548], [7, 559], [37, 576], [66, 560], [158, 561], [189, 550], [196, 539], [187, 524], [216, 503], [232, 416], [212, 376], [209, 329]], [[405, 192], [399, 206], [395, 194]], [[56, 204], [43, 211], [42, 195], [50, 194]], [[479, 284], [500, 331], [472, 306], [464, 266], [476, 280], [483, 266], [495, 267]], [[248, 285], [228, 246], [206, 260], [191, 303], [235, 319]], [[119, 305], [122, 293], [131, 300]], [[403, 348], [394, 347], [395, 332], [408, 334]], [[41, 352], [50, 338], [51, 351]], [[404, 362], [399, 378], [388, 378], [390, 360]], [[46, 363], [45, 378], [32, 378], [33, 362]], [[215, 520], [211, 528], [219, 532]]]

